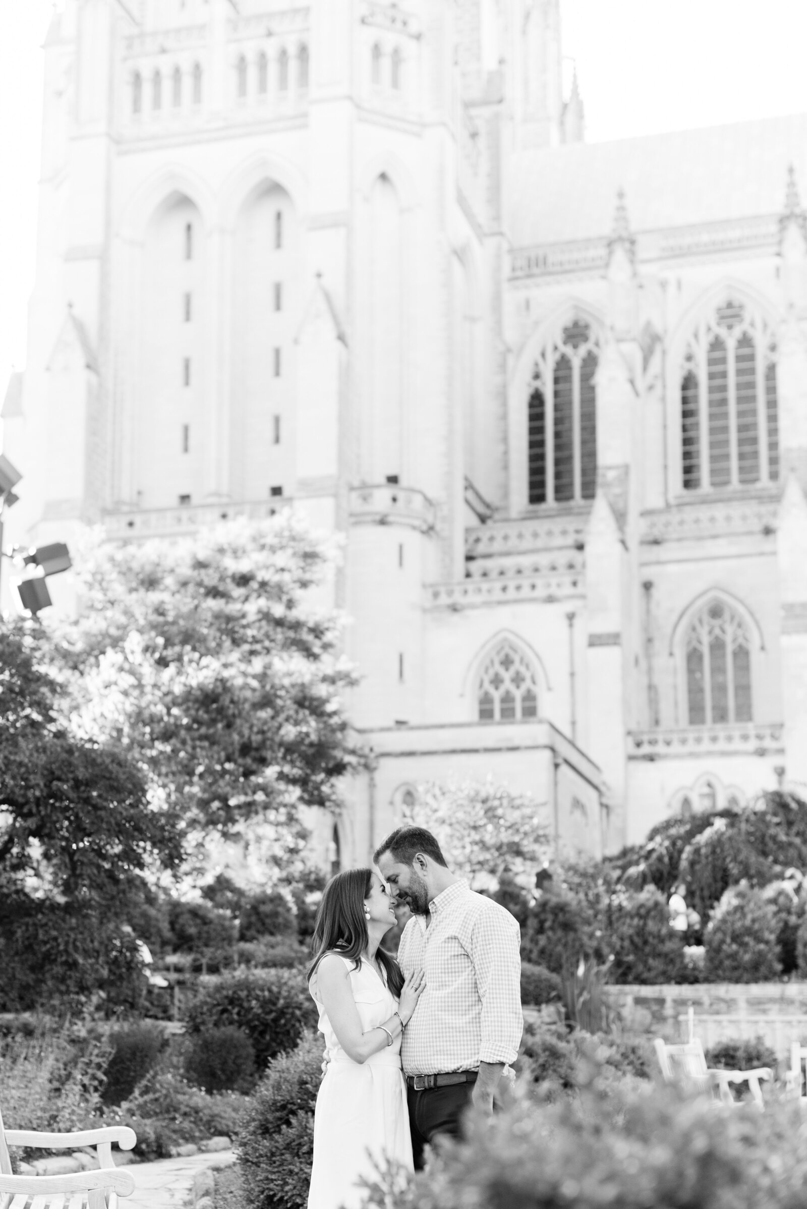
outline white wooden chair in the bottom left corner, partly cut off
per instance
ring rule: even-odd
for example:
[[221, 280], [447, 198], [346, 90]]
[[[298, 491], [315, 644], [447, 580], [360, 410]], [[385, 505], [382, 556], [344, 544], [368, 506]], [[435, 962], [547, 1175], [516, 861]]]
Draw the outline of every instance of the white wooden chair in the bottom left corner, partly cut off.
[[[134, 1179], [130, 1172], [115, 1167], [112, 1143], [132, 1150], [137, 1140], [128, 1126], [69, 1134], [5, 1130], [0, 1116], [0, 1209], [117, 1209], [117, 1198], [134, 1192]], [[99, 1167], [69, 1175], [12, 1175], [8, 1146], [68, 1151], [94, 1146]]]

